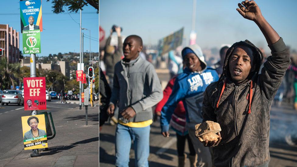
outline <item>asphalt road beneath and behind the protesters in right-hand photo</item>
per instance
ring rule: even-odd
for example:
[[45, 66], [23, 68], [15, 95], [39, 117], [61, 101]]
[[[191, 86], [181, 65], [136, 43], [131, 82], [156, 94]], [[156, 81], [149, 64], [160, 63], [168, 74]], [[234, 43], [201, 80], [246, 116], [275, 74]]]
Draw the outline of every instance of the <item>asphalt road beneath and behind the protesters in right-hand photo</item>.
[[[164, 88], [169, 80], [168, 71], [159, 70], [157, 74]], [[281, 106], [272, 106], [270, 112], [270, 163], [269, 166], [297, 166], [297, 146], [289, 146], [285, 136], [297, 134], [297, 111], [292, 104], [282, 103]], [[256, 125], [255, 125], [256, 126]], [[99, 134], [99, 164], [100, 167], [114, 166], [115, 164], [115, 130], [116, 126], [109, 123], [103, 125]], [[149, 166], [173, 167], [177, 166], [176, 137], [173, 130], [165, 138], [160, 133], [159, 121], [151, 125]], [[189, 149], [185, 147], [189, 155]], [[129, 166], [135, 166], [133, 145], [130, 151]], [[187, 160], [186, 166], [190, 166]]]

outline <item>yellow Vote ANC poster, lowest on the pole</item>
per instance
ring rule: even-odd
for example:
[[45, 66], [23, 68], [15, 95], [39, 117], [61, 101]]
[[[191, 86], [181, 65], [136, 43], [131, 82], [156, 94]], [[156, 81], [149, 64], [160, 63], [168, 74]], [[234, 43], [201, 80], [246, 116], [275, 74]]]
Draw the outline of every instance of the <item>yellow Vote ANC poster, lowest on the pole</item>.
[[44, 114], [22, 117], [25, 150], [47, 148]]

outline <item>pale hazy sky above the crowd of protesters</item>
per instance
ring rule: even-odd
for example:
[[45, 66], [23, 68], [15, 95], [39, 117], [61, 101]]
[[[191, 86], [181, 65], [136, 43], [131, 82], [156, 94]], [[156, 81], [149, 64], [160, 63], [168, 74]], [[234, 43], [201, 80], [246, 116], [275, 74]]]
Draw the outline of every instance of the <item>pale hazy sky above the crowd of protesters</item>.
[[[221, 47], [241, 40], [250, 40], [257, 47], [270, 52], [264, 35], [251, 20], [244, 19], [237, 11], [242, 1], [197, 0], [195, 32], [196, 43], [202, 48]], [[297, 1], [256, 1], [262, 15], [284, 39], [287, 46], [297, 48]], [[192, 21], [192, 0], [105, 0], [100, 1], [99, 25], [107, 32], [113, 24], [123, 27], [125, 36], [136, 34], [144, 44], [155, 45], [159, 39], [184, 27], [186, 45]]]

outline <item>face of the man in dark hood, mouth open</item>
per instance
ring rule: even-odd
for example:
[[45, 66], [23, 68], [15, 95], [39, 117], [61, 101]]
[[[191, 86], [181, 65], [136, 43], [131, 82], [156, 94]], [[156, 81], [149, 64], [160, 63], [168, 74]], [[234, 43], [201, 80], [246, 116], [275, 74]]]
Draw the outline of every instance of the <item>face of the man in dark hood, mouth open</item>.
[[233, 50], [229, 57], [229, 71], [233, 82], [243, 82], [255, 70], [253, 58], [253, 51], [249, 47], [238, 46]]

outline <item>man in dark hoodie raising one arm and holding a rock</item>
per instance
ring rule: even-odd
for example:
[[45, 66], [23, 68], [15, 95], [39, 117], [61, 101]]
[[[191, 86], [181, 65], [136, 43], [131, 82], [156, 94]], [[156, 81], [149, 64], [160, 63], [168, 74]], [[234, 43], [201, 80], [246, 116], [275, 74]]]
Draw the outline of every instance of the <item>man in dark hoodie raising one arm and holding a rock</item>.
[[262, 16], [254, 1], [236, 9], [254, 21], [263, 33], [272, 56], [259, 74], [263, 54], [250, 41], [234, 43], [226, 53], [222, 75], [204, 92], [203, 121], [220, 124], [218, 141], [202, 141], [213, 147], [215, 166], [266, 167], [269, 156], [270, 108], [290, 65], [283, 39]]

